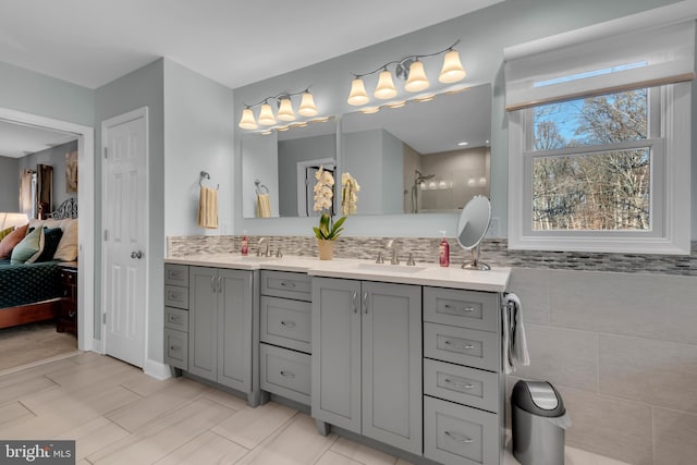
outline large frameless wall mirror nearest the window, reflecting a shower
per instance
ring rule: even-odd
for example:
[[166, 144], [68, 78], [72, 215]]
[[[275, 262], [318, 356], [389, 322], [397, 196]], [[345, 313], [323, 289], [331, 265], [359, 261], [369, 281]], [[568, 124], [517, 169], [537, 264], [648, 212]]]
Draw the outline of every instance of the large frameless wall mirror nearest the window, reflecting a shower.
[[458, 213], [489, 195], [491, 85], [342, 117], [342, 171], [360, 183], [358, 215]]

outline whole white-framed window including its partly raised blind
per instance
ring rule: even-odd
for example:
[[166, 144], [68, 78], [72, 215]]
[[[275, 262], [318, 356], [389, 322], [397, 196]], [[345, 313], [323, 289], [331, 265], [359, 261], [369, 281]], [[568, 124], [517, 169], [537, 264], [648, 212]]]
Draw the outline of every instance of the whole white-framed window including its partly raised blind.
[[504, 52], [510, 248], [689, 254], [695, 24], [625, 28]]

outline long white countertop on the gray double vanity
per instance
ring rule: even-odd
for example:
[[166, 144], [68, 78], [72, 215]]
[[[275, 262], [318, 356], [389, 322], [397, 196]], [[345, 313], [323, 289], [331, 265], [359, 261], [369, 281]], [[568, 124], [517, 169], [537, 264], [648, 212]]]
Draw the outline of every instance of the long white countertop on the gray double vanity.
[[462, 269], [460, 265], [444, 268], [436, 264], [417, 264], [414, 267], [408, 267], [406, 265], [390, 265], [389, 261], [378, 265], [371, 260], [345, 258], [334, 258], [333, 260], [294, 256], [266, 258], [255, 255], [242, 256], [240, 254], [198, 254], [167, 257], [164, 262], [239, 270], [296, 271], [316, 277], [432, 285], [486, 292], [504, 292], [511, 276], [511, 268], [503, 267], [494, 267], [489, 271], [478, 271]]

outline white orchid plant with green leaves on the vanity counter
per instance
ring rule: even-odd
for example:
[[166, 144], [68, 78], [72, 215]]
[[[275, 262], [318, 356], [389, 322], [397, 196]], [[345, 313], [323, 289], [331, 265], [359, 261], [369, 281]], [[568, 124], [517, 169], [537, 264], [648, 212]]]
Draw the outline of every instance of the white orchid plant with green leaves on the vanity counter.
[[334, 197], [334, 176], [331, 172], [325, 171], [319, 167], [315, 173], [315, 211], [321, 211], [319, 217], [319, 227], [313, 227], [315, 236], [323, 241], [335, 241], [343, 229], [346, 216], [354, 215], [357, 211], [356, 203], [358, 196], [356, 193], [360, 191], [358, 182], [350, 173], [343, 173], [341, 176], [341, 213], [343, 217], [334, 221], [332, 216], [332, 199]]

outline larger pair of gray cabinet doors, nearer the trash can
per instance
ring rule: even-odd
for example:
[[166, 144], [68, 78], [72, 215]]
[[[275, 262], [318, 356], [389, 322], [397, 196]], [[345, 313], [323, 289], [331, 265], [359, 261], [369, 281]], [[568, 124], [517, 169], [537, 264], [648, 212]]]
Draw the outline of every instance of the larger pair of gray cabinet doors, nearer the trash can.
[[311, 415], [423, 452], [421, 287], [313, 279]]

